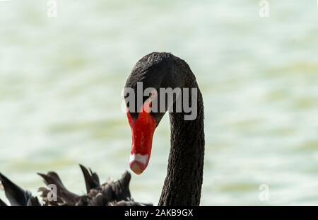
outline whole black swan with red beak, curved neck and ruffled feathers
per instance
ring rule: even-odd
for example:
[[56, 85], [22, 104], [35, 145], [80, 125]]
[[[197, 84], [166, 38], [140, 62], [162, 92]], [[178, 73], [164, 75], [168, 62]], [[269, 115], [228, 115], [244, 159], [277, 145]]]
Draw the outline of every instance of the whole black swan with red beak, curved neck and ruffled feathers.
[[[143, 88], [151, 88], [148, 95], [139, 101], [134, 96], [134, 105], [129, 100], [129, 91], [139, 93], [139, 83]], [[160, 88], [190, 88], [173, 95], [172, 105], [161, 96]], [[196, 88], [196, 93], [191, 88]], [[155, 89], [155, 92], [153, 91]], [[184, 120], [189, 111], [177, 109], [177, 98], [189, 91], [188, 103], [196, 105], [196, 117]], [[125, 86], [127, 117], [131, 127], [132, 146], [129, 166], [136, 174], [141, 174], [148, 166], [151, 155], [153, 133], [167, 110], [170, 114], [171, 148], [167, 166], [167, 176], [158, 205], [199, 205], [204, 169], [204, 105], [196, 78], [189, 65], [179, 57], [166, 52], [153, 52], [141, 58], [131, 71]], [[128, 95], [129, 94], [129, 95]], [[152, 110], [153, 104], [158, 110]], [[100, 184], [96, 173], [81, 166], [86, 181], [87, 194], [80, 196], [66, 190], [57, 173], [40, 174], [47, 185], [57, 185], [57, 200], [49, 201], [46, 187], [39, 189], [45, 205], [148, 205], [134, 202], [129, 192], [130, 174], [124, 173], [116, 182]], [[0, 180], [11, 205], [40, 205], [37, 197], [23, 190], [0, 173]], [[6, 205], [0, 199], [0, 206]]]

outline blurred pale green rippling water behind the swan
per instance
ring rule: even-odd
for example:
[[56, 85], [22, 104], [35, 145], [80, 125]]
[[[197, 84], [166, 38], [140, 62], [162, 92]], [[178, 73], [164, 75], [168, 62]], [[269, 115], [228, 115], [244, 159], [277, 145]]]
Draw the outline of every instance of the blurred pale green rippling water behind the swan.
[[[149, 52], [172, 52], [204, 94], [201, 204], [318, 204], [317, 1], [269, 3], [261, 18], [255, 0], [63, 0], [49, 18], [47, 1], [0, 1], [1, 172], [34, 193], [49, 170], [84, 193], [78, 163], [119, 178], [126, 78]], [[158, 202], [169, 147], [166, 115], [132, 177], [136, 201]]]

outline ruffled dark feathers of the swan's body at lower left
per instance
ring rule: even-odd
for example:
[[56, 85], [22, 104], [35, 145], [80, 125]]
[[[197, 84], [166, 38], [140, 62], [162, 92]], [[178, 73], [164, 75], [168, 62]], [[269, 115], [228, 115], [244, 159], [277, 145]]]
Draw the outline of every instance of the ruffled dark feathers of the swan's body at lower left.
[[[77, 195], [66, 189], [59, 175], [55, 172], [47, 174], [38, 173], [48, 187], [40, 187], [42, 202], [34, 197], [31, 192], [23, 190], [15, 183], [11, 182], [6, 176], [0, 173], [0, 181], [4, 187], [6, 197], [13, 206], [143, 206], [151, 204], [143, 204], [134, 202], [131, 199], [129, 191], [129, 182], [131, 175], [125, 172], [117, 181], [108, 180], [106, 183], [100, 184], [99, 177], [92, 170], [80, 165], [83, 177], [86, 183], [86, 195]], [[50, 195], [52, 192], [49, 186], [57, 187], [57, 197], [54, 199]], [[0, 206], [7, 204], [0, 199]]]

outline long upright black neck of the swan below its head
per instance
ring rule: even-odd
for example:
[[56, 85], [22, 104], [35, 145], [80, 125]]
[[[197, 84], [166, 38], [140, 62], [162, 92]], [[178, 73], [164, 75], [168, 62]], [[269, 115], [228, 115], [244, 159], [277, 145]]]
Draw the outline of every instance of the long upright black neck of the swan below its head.
[[[199, 88], [198, 88], [199, 90]], [[159, 205], [199, 205], [204, 169], [204, 106], [198, 93], [195, 120], [170, 113], [171, 148]]]

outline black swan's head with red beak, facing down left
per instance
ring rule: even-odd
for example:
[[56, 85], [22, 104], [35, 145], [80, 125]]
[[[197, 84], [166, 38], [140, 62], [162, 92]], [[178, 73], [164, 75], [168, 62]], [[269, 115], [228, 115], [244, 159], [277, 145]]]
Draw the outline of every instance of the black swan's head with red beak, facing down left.
[[127, 117], [131, 127], [129, 166], [136, 174], [147, 168], [153, 134], [169, 105], [160, 98], [160, 88], [180, 87], [170, 68], [172, 54], [153, 52], [141, 58], [132, 69], [124, 88]]

